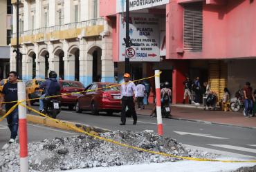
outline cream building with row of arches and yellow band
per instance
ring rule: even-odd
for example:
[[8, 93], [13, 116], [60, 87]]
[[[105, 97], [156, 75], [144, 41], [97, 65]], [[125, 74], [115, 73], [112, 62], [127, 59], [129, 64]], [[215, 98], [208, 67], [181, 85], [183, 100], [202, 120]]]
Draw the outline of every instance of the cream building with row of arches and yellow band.
[[[17, 14], [13, 1], [13, 15]], [[99, 0], [23, 0], [19, 6], [22, 79], [46, 78], [55, 70], [84, 86], [114, 80], [111, 23], [99, 17]], [[12, 18], [16, 48], [16, 17]], [[16, 69], [11, 52], [10, 69]]]

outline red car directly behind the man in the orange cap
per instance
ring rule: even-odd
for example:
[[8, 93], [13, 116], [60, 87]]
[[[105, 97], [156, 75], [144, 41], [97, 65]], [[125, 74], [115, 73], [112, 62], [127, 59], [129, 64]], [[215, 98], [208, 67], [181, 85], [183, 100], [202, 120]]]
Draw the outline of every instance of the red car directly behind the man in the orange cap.
[[99, 111], [106, 111], [108, 115], [112, 115], [113, 112], [120, 112], [122, 109], [120, 87], [108, 87], [111, 85], [116, 85], [116, 83], [92, 83], [86, 87], [85, 90], [96, 90], [84, 92], [83, 95], [79, 96], [75, 111], [81, 113], [91, 110], [93, 115], [98, 115]]

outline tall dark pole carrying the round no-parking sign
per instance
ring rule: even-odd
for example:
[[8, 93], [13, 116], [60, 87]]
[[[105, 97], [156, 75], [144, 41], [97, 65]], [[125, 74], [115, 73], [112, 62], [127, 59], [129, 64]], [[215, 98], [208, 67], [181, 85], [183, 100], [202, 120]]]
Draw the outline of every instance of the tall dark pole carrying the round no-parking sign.
[[[126, 36], [125, 36], [125, 47], [126, 49], [130, 47], [130, 37], [129, 37], [129, 0], [126, 0], [126, 11], [125, 11], [125, 28], [126, 28]], [[125, 73], [130, 73], [130, 59], [125, 53]]]

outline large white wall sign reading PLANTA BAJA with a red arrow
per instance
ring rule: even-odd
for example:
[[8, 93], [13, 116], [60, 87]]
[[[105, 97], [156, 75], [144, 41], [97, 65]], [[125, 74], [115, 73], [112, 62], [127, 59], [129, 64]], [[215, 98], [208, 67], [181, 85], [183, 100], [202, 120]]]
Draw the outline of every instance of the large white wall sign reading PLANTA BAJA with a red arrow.
[[[131, 14], [129, 19], [129, 36], [132, 43], [139, 46], [125, 48], [125, 18], [119, 22], [119, 61], [125, 56], [132, 56], [130, 61], [160, 61], [160, 29], [159, 19], [151, 14]], [[129, 50], [127, 52], [127, 50]], [[129, 56], [128, 56], [129, 55]]]

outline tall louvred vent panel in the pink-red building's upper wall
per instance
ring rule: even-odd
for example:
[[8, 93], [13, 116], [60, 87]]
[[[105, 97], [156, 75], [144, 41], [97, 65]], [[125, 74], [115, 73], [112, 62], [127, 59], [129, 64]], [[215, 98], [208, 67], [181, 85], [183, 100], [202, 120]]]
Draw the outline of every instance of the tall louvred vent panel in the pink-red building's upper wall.
[[184, 50], [200, 52], [203, 42], [203, 5], [188, 3], [184, 5]]

